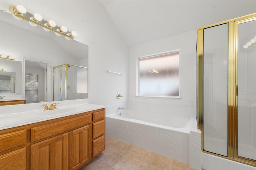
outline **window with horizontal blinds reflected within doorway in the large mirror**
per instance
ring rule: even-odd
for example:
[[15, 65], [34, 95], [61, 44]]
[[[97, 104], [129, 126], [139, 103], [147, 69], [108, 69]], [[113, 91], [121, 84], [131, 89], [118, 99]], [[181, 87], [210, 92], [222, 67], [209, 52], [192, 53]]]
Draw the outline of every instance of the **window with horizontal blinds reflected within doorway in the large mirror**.
[[38, 102], [38, 75], [25, 74], [26, 103]]

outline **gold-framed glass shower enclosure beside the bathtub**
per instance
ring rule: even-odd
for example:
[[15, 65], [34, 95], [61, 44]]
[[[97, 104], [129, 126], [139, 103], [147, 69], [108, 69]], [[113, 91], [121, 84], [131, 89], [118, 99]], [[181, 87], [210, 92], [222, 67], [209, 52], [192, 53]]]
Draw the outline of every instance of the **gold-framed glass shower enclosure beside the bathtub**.
[[198, 29], [202, 152], [256, 166], [256, 13]]

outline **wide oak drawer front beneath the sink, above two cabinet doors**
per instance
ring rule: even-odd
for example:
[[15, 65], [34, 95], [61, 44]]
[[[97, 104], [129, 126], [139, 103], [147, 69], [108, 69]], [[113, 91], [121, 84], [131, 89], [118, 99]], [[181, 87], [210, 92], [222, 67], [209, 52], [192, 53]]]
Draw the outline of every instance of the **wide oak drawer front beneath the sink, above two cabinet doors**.
[[39, 127], [31, 128], [31, 142], [62, 133], [70, 129], [82, 127], [91, 123], [92, 115], [83, 115], [74, 117], [71, 119], [58, 121], [56, 123], [50, 123], [48, 125], [42, 125]]

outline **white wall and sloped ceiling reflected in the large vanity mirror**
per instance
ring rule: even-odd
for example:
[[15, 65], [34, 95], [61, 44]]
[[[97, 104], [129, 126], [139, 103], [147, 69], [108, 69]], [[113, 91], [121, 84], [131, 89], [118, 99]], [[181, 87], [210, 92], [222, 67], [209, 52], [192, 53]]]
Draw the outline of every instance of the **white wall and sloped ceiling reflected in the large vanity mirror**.
[[[64, 36], [56, 36], [53, 31], [44, 31], [40, 25], [32, 26], [28, 21], [17, 20], [12, 14], [1, 10], [0, 30], [0, 53], [12, 55], [17, 61], [26, 59], [48, 64], [47, 81], [43, 82], [46, 84], [47, 91], [45, 100], [42, 101], [53, 101], [53, 66], [69, 63], [88, 68], [88, 46], [78, 41], [67, 40]], [[20, 94], [23, 98], [25, 98], [25, 64], [25, 62], [22, 63], [23, 82], [20, 83], [19, 87], [22, 89]], [[43, 85], [39, 84], [38, 86]], [[87, 87], [87, 84], [84, 86]], [[40, 98], [39, 94], [39, 102], [41, 101]]]

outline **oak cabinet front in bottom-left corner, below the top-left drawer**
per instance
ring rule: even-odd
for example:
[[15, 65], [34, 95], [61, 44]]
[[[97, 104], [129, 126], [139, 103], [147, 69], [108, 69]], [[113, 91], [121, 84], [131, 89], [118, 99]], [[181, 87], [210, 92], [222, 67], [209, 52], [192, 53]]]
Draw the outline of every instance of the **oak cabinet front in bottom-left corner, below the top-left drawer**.
[[1, 170], [26, 170], [26, 147], [0, 156]]

